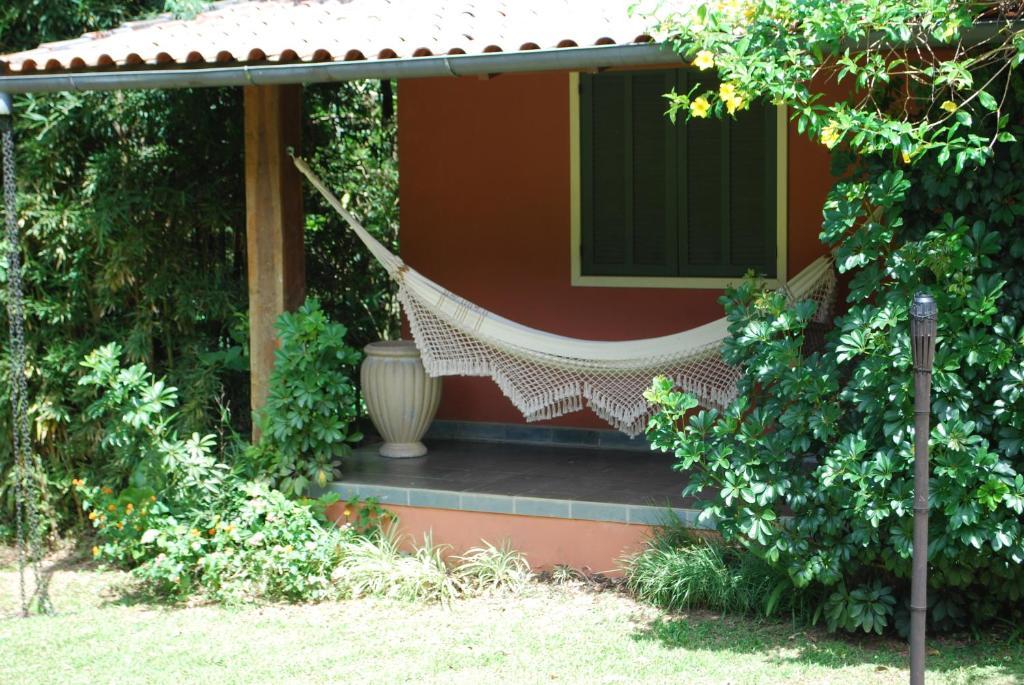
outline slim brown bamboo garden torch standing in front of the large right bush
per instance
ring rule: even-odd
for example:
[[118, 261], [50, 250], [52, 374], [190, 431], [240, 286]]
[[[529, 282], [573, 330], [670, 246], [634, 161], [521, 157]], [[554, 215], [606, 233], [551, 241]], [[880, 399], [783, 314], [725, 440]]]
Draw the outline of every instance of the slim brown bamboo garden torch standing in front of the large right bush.
[[925, 683], [925, 618], [928, 615], [928, 436], [932, 365], [938, 307], [928, 293], [910, 305], [913, 356], [913, 561], [910, 575], [910, 685]]

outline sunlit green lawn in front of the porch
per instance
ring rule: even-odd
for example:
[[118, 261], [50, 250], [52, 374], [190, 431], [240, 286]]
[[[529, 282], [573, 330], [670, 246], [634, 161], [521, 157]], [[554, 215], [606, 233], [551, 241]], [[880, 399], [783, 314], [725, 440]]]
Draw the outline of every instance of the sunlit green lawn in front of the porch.
[[[450, 607], [380, 600], [305, 606], [133, 602], [125, 576], [57, 564], [59, 614], [13, 617], [0, 569], [0, 683], [904, 683], [892, 640], [670, 616], [620, 593], [537, 584]], [[129, 598], [126, 598], [129, 597]], [[1024, 646], [939, 641], [930, 683], [1024, 682]]]

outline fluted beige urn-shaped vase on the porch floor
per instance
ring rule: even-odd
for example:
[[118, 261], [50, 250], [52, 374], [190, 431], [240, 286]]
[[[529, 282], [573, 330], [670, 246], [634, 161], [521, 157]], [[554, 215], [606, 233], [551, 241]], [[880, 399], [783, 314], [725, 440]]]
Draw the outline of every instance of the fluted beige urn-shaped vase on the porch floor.
[[370, 419], [384, 443], [382, 457], [422, 457], [421, 442], [441, 399], [441, 380], [427, 376], [412, 340], [385, 340], [366, 347], [359, 376]]

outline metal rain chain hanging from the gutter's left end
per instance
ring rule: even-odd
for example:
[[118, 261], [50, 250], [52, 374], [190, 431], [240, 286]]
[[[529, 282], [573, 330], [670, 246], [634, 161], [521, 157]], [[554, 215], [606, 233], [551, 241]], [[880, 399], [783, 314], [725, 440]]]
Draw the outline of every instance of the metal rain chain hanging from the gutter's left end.
[[[22, 613], [29, 615], [33, 599], [38, 609], [48, 613], [50, 601], [40, 564], [43, 557], [43, 530], [39, 510], [45, 498], [42, 462], [32, 449], [29, 431], [29, 388], [26, 380], [25, 293], [22, 285], [22, 248], [17, 226], [17, 200], [14, 189], [14, 132], [10, 117], [0, 117], [3, 132], [3, 199], [7, 238], [7, 322], [10, 335], [11, 434], [14, 458], [14, 519], [17, 534], [18, 585]], [[26, 568], [32, 567], [35, 589], [30, 596]]]

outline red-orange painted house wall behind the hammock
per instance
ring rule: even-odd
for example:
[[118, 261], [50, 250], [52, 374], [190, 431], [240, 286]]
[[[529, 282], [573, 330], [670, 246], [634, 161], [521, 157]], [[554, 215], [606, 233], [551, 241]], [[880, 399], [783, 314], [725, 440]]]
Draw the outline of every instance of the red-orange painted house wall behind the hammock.
[[[418, 79], [398, 86], [401, 255], [503, 316], [578, 338], [667, 335], [722, 315], [721, 291], [570, 285], [569, 76]], [[817, 240], [828, 157], [791, 130], [788, 272]], [[488, 379], [446, 378], [440, 419], [522, 422]], [[556, 424], [607, 427], [589, 412]]]

